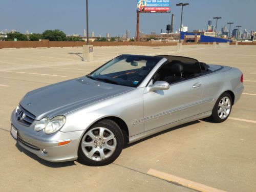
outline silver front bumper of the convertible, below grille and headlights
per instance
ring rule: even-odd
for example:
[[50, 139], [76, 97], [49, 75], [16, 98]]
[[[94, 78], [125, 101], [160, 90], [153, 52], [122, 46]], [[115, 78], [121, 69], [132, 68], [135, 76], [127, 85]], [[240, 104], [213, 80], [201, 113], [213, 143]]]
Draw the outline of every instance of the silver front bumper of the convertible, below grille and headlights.
[[[34, 131], [36, 121], [30, 126], [17, 122], [15, 113], [11, 115], [11, 123], [17, 129], [17, 143], [37, 155], [39, 158], [51, 162], [73, 161], [77, 159], [77, 150], [83, 131], [56, 132], [51, 135], [43, 131]], [[71, 140], [69, 144], [59, 146], [62, 141]]]

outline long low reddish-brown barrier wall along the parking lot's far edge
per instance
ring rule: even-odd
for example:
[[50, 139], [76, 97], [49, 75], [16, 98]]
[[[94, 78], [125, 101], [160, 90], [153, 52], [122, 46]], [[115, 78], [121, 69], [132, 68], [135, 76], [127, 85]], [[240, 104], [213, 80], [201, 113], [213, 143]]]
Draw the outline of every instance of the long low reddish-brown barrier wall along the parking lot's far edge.
[[[195, 45], [196, 43], [183, 43], [183, 45]], [[82, 47], [86, 45], [84, 41], [0, 41], [0, 49], [4, 48], [50, 48], [50, 47]], [[177, 46], [177, 42], [90, 42], [93, 46], [148, 46], [148, 47], [160, 47], [160, 46]]]

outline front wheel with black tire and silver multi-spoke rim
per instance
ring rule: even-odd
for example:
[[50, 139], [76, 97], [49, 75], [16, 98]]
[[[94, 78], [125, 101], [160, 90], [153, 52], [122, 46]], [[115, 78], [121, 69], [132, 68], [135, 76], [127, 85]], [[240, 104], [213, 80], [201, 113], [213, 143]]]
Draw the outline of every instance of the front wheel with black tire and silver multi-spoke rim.
[[115, 121], [104, 119], [84, 133], [78, 147], [78, 161], [103, 166], [115, 161], [123, 149], [122, 131]]

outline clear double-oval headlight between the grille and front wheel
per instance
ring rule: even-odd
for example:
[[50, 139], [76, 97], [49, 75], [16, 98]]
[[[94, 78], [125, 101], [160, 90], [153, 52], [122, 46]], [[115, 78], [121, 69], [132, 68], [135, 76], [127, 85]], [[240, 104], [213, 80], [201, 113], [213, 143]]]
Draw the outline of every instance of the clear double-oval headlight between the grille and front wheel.
[[66, 122], [66, 117], [59, 115], [49, 120], [48, 117], [42, 118], [35, 125], [35, 131], [41, 131], [45, 129], [46, 134], [52, 134], [58, 131]]

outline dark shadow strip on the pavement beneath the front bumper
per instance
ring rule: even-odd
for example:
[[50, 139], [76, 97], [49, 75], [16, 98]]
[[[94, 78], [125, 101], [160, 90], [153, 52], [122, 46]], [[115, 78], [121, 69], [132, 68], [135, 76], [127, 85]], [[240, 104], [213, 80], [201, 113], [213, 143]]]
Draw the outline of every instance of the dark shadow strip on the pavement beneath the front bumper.
[[60, 168], [60, 167], [67, 167], [67, 166], [76, 165], [74, 161], [58, 162], [58, 163], [46, 161], [44, 159], [41, 159], [41, 158], [37, 157], [35, 154], [33, 154], [30, 151], [26, 150], [25, 148], [23, 148], [22, 146], [18, 145], [17, 143], [16, 143], [16, 147], [17, 147], [17, 149], [19, 150], [20, 153], [24, 153], [27, 156], [31, 157], [32, 159], [36, 160], [38, 163], [40, 163], [42, 165], [45, 165], [45, 166], [48, 166], [48, 167]]

